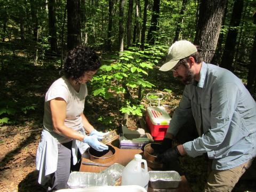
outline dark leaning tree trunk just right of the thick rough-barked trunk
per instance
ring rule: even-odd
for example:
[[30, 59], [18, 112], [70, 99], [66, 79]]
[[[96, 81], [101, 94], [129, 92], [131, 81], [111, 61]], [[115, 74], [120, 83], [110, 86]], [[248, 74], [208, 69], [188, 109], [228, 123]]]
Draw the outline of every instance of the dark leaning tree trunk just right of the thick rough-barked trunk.
[[221, 67], [233, 70], [233, 59], [235, 55], [237, 27], [240, 25], [242, 12], [243, 12], [243, 0], [235, 0], [233, 12], [230, 20], [230, 28], [225, 43], [225, 49], [221, 58]]

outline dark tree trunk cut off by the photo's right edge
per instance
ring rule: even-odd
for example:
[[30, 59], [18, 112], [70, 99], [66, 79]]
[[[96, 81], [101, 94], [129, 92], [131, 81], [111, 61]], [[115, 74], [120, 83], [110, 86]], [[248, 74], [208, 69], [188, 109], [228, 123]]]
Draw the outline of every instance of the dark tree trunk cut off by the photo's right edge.
[[[254, 13], [254, 25], [256, 25], [256, 12]], [[254, 42], [251, 54], [251, 62], [249, 65], [248, 78], [247, 78], [247, 89], [252, 95], [255, 94], [256, 90], [256, 31], [254, 31]]]

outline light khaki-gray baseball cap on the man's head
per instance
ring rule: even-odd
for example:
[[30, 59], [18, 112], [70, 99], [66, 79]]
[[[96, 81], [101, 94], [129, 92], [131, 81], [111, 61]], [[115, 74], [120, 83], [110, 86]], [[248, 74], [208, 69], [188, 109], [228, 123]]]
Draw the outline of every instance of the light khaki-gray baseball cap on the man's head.
[[161, 71], [171, 70], [180, 59], [197, 52], [196, 46], [189, 41], [177, 41], [170, 46], [164, 65], [159, 68]]

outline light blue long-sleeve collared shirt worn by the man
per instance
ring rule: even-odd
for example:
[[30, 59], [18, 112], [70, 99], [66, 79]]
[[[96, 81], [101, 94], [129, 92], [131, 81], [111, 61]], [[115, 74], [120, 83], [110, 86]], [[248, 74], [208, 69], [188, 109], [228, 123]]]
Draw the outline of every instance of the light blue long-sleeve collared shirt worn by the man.
[[189, 156], [207, 153], [215, 170], [231, 169], [256, 156], [256, 103], [229, 70], [203, 62], [199, 82], [185, 86], [167, 132], [176, 135], [190, 116], [199, 135], [202, 125], [203, 134], [183, 143]]

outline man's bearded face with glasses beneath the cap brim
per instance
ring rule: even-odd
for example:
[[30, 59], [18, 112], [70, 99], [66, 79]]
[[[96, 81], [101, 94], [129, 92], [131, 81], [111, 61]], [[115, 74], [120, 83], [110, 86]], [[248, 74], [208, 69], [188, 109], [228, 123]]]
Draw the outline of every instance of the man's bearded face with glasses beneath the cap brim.
[[194, 82], [194, 73], [189, 69], [189, 65], [179, 65], [173, 67], [173, 77], [178, 78], [183, 84], [188, 85]]

